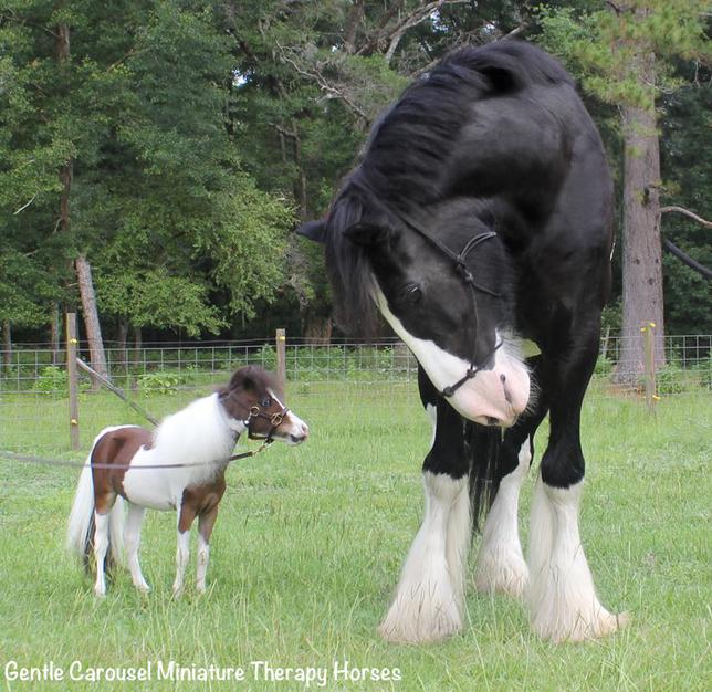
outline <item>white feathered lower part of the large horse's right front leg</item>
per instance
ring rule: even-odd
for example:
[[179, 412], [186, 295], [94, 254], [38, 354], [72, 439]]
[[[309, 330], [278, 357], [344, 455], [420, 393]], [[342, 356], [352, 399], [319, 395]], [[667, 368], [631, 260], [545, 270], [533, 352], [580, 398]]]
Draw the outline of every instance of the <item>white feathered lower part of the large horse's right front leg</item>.
[[628, 620], [608, 612], [596, 596], [578, 533], [582, 485], [551, 487], [540, 474], [532, 505], [531, 621], [540, 637], [554, 642], [603, 637]]

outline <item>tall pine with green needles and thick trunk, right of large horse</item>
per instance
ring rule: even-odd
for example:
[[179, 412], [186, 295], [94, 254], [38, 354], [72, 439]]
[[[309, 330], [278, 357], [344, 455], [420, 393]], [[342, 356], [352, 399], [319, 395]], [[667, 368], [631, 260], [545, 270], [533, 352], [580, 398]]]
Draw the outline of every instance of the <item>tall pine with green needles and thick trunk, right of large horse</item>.
[[635, 381], [642, 370], [641, 324], [656, 324], [656, 363], [664, 363], [656, 103], [679, 86], [666, 59], [705, 52], [702, 9], [695, 0], [626, 0], [540, 13], [545, 45], [567, 60], [584, 88], [619, 108], [625, 149], [619, 382]]

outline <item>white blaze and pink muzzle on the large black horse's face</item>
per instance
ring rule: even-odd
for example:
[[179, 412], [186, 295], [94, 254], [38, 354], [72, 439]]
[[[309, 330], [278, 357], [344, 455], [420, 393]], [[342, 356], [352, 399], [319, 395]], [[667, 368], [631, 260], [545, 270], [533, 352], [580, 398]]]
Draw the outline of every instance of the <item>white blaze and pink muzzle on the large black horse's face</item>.
[[[442, 391], [459, 381], [470, 363], [440, 348], [434, 342], [410, 334], [394, 315], [383, 293], [376, 304], [396, 334], [406, 343], [430, 381]], [[498, 340], [501, 337], [498, 335]], [[485, 426], [510, 428], [524, 412], [530, 399], [530, 376], [516, 348], [505, 343], [494, 354], [494, 365], [480, 370], [456, 389], [448, 402], [464, 418]]]

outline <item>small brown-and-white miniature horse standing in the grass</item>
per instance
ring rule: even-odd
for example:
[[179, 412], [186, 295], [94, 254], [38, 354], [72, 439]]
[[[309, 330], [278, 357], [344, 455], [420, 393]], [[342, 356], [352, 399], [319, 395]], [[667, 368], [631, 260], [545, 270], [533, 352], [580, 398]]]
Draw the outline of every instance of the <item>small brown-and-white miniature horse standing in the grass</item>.
[[[67, 545], [83, 555], [94, 547], [97, 596], [106, 594], [107, 552], [118, 557], [123, 530], [134, 586], [149, 587], [138, 564], [140, 527], [147, 507], [178, 512], [177, 573], [174, 594], [184, 588], [190, 527], [198, 517], [197, 589], [206, 590], [209, 543], [226, 490], [224, 472], [241, 433], [265, 442], [300, 444], [308, 428], [275, 395], [269, 373], [240, 368], [230, 384], [167, 417], [155, 431], [138, 426], [102, 430], [80, 476], [70, 515]], [[124, 515], [123, 499], [128, 504]]]

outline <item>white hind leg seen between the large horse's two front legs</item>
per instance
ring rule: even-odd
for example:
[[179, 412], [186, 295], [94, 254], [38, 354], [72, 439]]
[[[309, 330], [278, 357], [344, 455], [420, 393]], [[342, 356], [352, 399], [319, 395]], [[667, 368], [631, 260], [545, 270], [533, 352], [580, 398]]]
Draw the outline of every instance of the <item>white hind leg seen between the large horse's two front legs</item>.
[[474, 572], [474, 583], [480, 591], [507, 594], [515, 598], [524, 594], [528, 568], [520, 542], [517, 512], [520, 489], [531, 462], [527, 438], [520, 450], [517, 468], [502, 479], [484, 523], [482, 547]]

